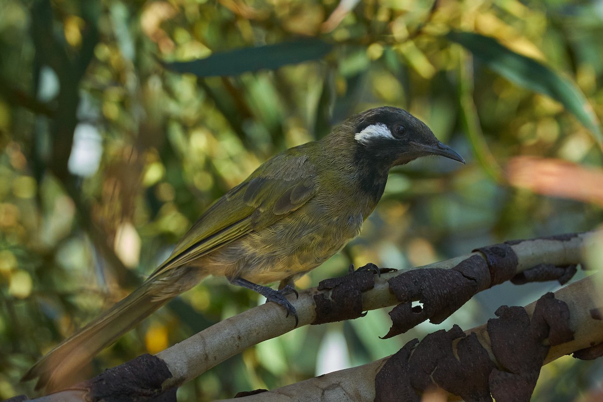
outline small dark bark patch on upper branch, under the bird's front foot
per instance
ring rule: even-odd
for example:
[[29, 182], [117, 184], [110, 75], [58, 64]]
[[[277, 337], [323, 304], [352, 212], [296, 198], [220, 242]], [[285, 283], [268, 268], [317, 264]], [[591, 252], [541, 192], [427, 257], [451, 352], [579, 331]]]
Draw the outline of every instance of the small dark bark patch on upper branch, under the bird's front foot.
[[362, 316], [362, 292], [373, 289], [372, 272], [356, 271], [340, 278], [318, 283], [319, 291], [330, 289], [330, 297], [323, 292], [314, 295], [316, 319], [312, 324], [343, 321]]

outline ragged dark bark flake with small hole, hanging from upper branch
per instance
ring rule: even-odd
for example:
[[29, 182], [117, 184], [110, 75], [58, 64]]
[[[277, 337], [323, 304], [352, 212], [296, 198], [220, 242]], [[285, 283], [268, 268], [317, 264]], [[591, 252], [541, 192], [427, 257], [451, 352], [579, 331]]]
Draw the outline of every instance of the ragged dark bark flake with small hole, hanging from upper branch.
[[[451, 269], [415, 269], [388, 280], [400, 304], [390, 312], [393, 325], [384, 339], [408, 331], [429, 319], [439, 324], [476, 293], [487, 289], [490, 271], [480, 256], [471, 256]], [[423, 307], [412, 307], [418, 300]]]

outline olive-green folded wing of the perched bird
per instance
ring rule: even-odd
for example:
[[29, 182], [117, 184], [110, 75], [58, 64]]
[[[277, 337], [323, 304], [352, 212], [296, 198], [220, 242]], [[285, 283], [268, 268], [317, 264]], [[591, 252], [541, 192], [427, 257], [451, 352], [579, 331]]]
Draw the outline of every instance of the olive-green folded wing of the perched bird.
[[315, 177], [314, 165], [306, 155], [291, 150], [276, 155], [216, 200], [151, 278], [267, 227], [303, 206], [317, 190]]

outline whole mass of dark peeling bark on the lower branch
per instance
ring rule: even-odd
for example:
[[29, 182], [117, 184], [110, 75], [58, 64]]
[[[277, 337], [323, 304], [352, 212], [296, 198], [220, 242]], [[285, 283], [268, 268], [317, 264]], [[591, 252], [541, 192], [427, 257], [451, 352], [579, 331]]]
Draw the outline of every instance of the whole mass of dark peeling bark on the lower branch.
[[467, 402], [529, 401], [549, 345], [573, 339], [569, 307], [548, 293], [532, 317], [523, 307], [507, 306], [496, 315], [487, 330], [497, 365], [475, 333], [454, 325], [409, 342], [388, 360], [376, 377], [375, 400], [418, 401], [426, 390], [441, 388]]

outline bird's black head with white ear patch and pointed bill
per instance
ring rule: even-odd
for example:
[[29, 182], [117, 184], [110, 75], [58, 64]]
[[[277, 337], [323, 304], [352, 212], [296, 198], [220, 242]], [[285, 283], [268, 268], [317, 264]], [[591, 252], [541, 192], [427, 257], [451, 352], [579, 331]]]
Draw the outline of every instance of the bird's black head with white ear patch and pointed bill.
[[425, 123], [397, 107], [364, 111], [352, 116], [346, 126], [354, 131], [356, 155], [383, 164], [387, 169], [428, 155], [465, 163], [461, 155], [438, 141]]

